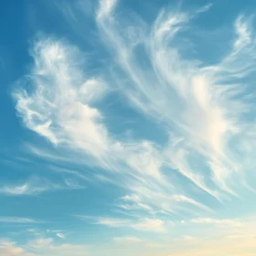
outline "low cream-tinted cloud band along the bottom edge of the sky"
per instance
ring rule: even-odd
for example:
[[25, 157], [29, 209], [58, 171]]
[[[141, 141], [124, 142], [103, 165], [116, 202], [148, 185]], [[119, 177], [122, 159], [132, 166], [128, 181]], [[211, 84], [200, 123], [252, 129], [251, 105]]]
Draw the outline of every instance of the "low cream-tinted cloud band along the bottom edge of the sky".
[[[84, 217], [84, 219], [95, 220], [95, 218]], [[99, 218], [100, 219], [100, 218]], [[61, 243], [61, 240], [44, 237], [41, 232], [35, 232], [34, 229], [29, 230], [34, 234], [36, 239], [25, 240], [19, 244], [10, 240], [0, 240], [0, 255], [2, 256], [58, 256], [58, 255], [250, 255], [255, 251], [255, 218], [249, 219], [191, 219], [187, 222], [188, 229], [184, 230], [182, 226], [176, 222], [172, 227], [172, 235], [170, 233], [157, 233], [157, 236], [147, 236], [141, 238], [137, 236], [116, 236], [107, 243], [93, 244], [71, 244]], [[234, 221], [243, 223], [243, 225], [233, 225]], [[131, 219], [104, 219], [106, 225], [114, 225], [119, 228], [121, 233], [123, 225], [133, 225], [135, 220]], [[141, 221], [143, 222], [143, 221]], [[144, 221], [145, 223], [146, 221]], [[151, 223], [149, 223], [151, 222]], [[124, 224], [123, 224], [124, 223]], [[136, 223], [139, 223], [137, 221]], [[206, 225], [206, 229], [199, 229], [198, 224]], [[152, 221], [147, 224], [152, 226]], [[165, 223], [165, 228], [168, 226]], [[197, 224], [197, 225], [195, 225]], [[153, 225], [154, 226], [154, 225]], [[183, 229], [183, 230], [181, 230]], [[131, 231], [131, 230], [130, 230]], [[136, 231], [136, 230], [135, 230]], [[60, 230], [47, 230], [47, 233], [61, 233]], [[136, 231], [137, 233], [137, 231]]]

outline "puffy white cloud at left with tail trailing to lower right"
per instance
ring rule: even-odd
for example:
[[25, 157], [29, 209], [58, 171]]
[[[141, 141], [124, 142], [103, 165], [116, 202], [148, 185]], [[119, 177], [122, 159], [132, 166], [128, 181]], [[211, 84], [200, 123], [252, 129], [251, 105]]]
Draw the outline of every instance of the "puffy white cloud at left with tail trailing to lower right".
[[[133, 183], [146, 179], [144, 184], [152, 183], [157, 190], [170, 190], [160, 172], [160, 167], [164, 165], [164, 159], [161, 159], [162, 156], [153, 143], [147, 141], [129, 143], [114, 140], [108, 134], [107, 127], [100, 123], [101, 112], [96, 108], [91, 108], [89, 103], [81, 102], [81, 99], [86, 101], [86, 97], [83, 98], [81, 93], [88, 94], [88, 102], [93, 103], [98, 95], [91, 97], [91, 88], [95, 87], [96, 93], [101, 93], [101, 95], [104, 89], [101, 89], [100, 79], [98, 82], [95, 79], [82, 80], [85, 75], [80, 69], [75, 69], [75, 64], [71, 65], [71, 63], [75, 63], [71, 57], [76, 56], [76, 50], [75, 52], [72, 50], [73, 48], [64, 46], [62, 42], [52, 41], [52, 39], [43, 39], [43, 41], [37, 42], [32, 51], [36, 58], [36, 67], [33, 76], [29, 78], [35, 82], [33, 85], [37, 86], [36, 91], [32, 91], [30, 95], [27, 91], [20, 89], [14, 92], [14, 97], [17, 99], [17, 111], [22, 115], [26, 114], [24, 121], [27, 127], [47, 137], [53, 144], [63, 144], [63, 146], [74, 148], [74, 150], [84, 150], [85, 154], [97, 160], [97, 162], [94, 160], [94, 165], [100, 164], [112, 171], [117, 171], [122, 167], [123, 174], [121, 175], [128, 176]], [[54, 69], [58, 70], [52, 72]], [[74, 74], [75, 80], [73, 80]], [[73, 85], [76, 84], [76, 81], [79, 82], [78, 79], [80, 79], [81, 85], [77, 85], [78, 91], [76, 91], [76, 86], [73, 88]], [[55, 82], [54, 84], [48, 83], [48, 80], [53, 82], [56, 80], [57, 88], [53, 86]], [[61, 90], [58, 89], [59, 84], [61, 84]], [[66, 88], [63, 88], [62, 85], [65, 84]], [[87, 88], [89, 91], [86, 91]], [[53, 99], [48, 99], [48, 97]], [[33, 110], [30, 109], [32, 106]], [[72, 110], [72, 108], [74, 109]], [[147, 172], [144, 171], [145, 168]], [[140, 187], [134, 185], [130, 189], [136, 191]], [[158, 194], [163, 197], [161, 192]], [[165, 197], [167, 198], [167, 196]], [[185, 201], [201, 207], [195, 200], [189, 200], [185, 196], [179, 197], [177, 200], [177, 197], [173, 198], [174, 201]], [[172, 209], [169, 210], [172, 211]]]

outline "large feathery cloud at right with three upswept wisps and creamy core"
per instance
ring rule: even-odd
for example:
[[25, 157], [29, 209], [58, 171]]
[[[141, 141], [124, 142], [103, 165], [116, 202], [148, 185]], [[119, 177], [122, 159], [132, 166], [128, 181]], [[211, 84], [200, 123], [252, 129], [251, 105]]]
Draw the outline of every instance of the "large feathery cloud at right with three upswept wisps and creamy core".
[[[251, 43], [250, 24], [239, 17], [235, 22], [234, 48], [219, 63], [208, 67], [202, 61], [187, 59], [177, 41], [182, 39], [179, 32], [187, 29], [189, 18], [181, 12], [167, 11], [157, 17], [147, 39], [142, 42], [148, 55], [145, 61], [148, 60], [152, 69], [141, 69], [133, 44], [123, 36], [122, 20], [118, 23], [113, 20], [114, 16], [105, 15], [98, 19], [98, 24], [125, 79], [130, 80], [123, 88], [127, 100], [145, 115], [161, 120], [171, 132], [170, 140], [174, 136], [183, 142], [169, 144], [164, 161], [169, 160], [171, 167], [221, 200], [225, 192], [236, 195], [232, 188], [234, 180], [239, 182], [236, 172], [238, 168], [244, 171], [229, 142], [239, 139], [238, 133], [246, 131], [241, 113], [248, 109], [247, 103], [234, 96], [241, 91], [250, 93], [236, 80], [255, 69], [252, 61], [255, 49]], [[136, 24], [131, 21], [131, 26]], [[124, 81], [120, 79], [119, 83]], [[209, 185], [200, 164], [192, 168], [191, 160], [204, 163], [215, 185]], [[218, 163], [219, 167], [208, 163]]]

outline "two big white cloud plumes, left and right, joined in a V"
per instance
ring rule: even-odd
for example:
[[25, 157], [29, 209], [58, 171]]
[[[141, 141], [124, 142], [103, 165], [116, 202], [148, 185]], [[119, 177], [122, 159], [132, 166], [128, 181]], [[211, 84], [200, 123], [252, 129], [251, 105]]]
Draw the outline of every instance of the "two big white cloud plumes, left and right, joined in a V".
[[[236, 183], [245, 172], [237, 160], [240, 141], [244, 142], [244, 136], [253, 136], [248, 132], [253, 121], [241, 122], [251, 112], [250, 104], [244, 100], [250, 91], [237, 81], [253, 71], [250, 21], [239, 16], [234, 24], [237, 36], [229, 54], [218, 65], [204, 66], [197, 60], [185, 59], [176, 46], [176, 37], [180, 37], [193, 16], [162, 11], [151, 32], [146, 35], [143, 31], [144, 39], [137, 42], [148, 56], [149, 70], [144, 70], [133, 53], [137, 44], [133, 38], [131, 43], [125, 42], [115, 22], [116, 4], [101, 1], [96, 15], [100, 35], [115, 55], [128, 84], [120, 78], [116, 80], [125, 85], [122, 92], [135, 109], [157, 122], [161, 120], [165, 133], [170, 134], [169, 143], [116, 140], [109, 133], [101, 110], [96, 108], [111, 80], [88, 77], [81, 67], [83, 60], [78, 48], [52, 38], [37, 40], [31, 51], [35, 66], [21, 81], [31, 84], [31, 91], [18, 87], [14, 92], [16, 109], [27, 127], [53, 144], [83, 150], [93, 157], [94, 165], [110, 170], [122, 166], [123, 174], [132, 176], [129, 178], [134, 185], [129, 188], [138, 194], [143, 194], [138, 190], [147, 186], [155, 196], [161, 190], [165, 192], [161, 191], [160, 197], [173, 194], [176, 184], [167, 181], [165, 167], [176, 170], [219, 201], [227, 195], [237, 197]], [[242, 66], [244, 59], [247, 61]], [[238, 95], [243, 97], [238, 99]], [[230, 145], [232, 141], [237, 144], [235, 148]], [[252, 155], [247, 152], [244, 158]], [[192, 167], [192, 162], [197, 163], [197, 168]], [[208, 175], [201, 172], [203, 167]], [[137, 181], [144, 179], [144, 187], [138, 187]], [[154, 196], [151, 198], [154, 201]], [[195, 198], [171, 198], [202, 208]]]

